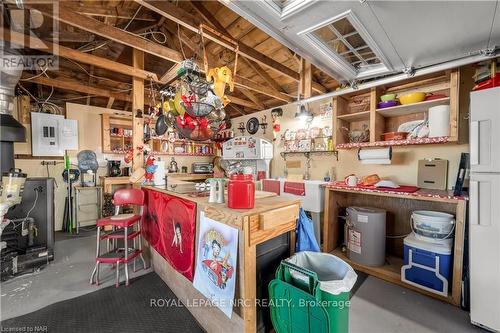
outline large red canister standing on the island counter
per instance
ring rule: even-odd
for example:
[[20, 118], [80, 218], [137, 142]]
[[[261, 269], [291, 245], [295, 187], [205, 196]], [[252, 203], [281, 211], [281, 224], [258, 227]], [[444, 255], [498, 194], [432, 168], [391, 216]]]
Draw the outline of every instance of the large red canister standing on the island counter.
[[227, 206], [250, 209], [255, 203], [255, 183], [252, 175], [234, 174], [227, 184]]

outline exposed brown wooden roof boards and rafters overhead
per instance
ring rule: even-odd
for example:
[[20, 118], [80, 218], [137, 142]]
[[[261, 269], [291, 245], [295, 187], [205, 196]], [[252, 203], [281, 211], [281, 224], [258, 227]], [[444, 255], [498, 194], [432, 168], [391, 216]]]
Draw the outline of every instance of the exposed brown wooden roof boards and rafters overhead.
[[[230, 104], [226, 109], [228, 114], [236, 115], [242, 112], [248, 114], [295, 101], [301, 75], [292, 55], [286, 53], [286, 47], [217, 1], [190, 0], [175, 3], [153, 0], [81, 0], [61, 2], [59, 15], [54, 17], [61, 23], [59, 37], [62, 39], [57, 40], [58, 47], [62, 50], [59, 55], [63, 59], [69, 59], [73, 64], [61, 62], [59, 70], [51, 71], [54, 74], [49, 73], [50, 78], [57, 75], [58, 78], [61, 77], [64, 80], [69, 78], [70, 81], [79, 81], [91, 89], [100, 87], [104, 91], [120, 93], [121, 87], [125, 87], [125, 91], [128, 88], [120, 84], [120, 81], [131, 82], [133, 78], [147, 81], [152, 79], [158, 87], [158, 84], [162, 85], [167, 81], [175, 80], [180, 63], [186, 58], [191, 58], [193, 54], [198, 54], [199, 64], [204, 68], [201, 64], [203, 57], [199, 54], [200, 38], [199, 35], [196, 36], [199, 34], [199, 25], [186, 27], [185, 24], [172, 20], [168, 15], [151, 10], [144, 3], [155, 6], [160, 4], [165, 8], [173, 6], [176, 8], [175, 14], [180, 13], [181, 19], [187, 18], [188, 23], [192, 19], [192, 22], [203, 22], [208, 25], [206, 33], [210, 36], [205, 36], [204, 40], [205, 45], [209, 45], [205, 48], [208, 53], [211, 53], [209, 56], [211, 67], [226, 64], [232, 68], [235, 61], [232, 52], [239, 49], [238, 70], [234, 78], [236, 90], [228, 92], [228, 97], [239, 111], [232, 108]], [[26, 0], [25, 7], [36, 8], [45, 16], [51, 17], [51, 12], [44, 10], [50, 6], [44, 8], [43, 2], [39, 0]], [[145, 19], [136, 20], [137, 17]], [[161, 42], [149, 35], [140, 36], [141, 32], [137, 32], [138, 29], [142, 31], [152, 29], [164, 33], [166, 42]], [[47, 40], [55, 41], [50, 37], [50, 29], [41, 29], [40, 34], [38, 32], [36, 34], [39, 37], [42, 36], [41, 41], [46, 44]], [[2, 35], [11, 34], [9, 31], [7, 33], [2, 31]], [[24, 42], [25, 38], [30, 37], [18, 34], [15, 38]], [[222, 39], [222, 42], [217, 39]], [[233, 42], [235, 39], [238, 40], [238, 47], [235, 47], [236, 44]], [[94, 50], [93, 45], [100, 43], [104, 43], [105, 46]], [[24, 45], [27, 44], [24, 43]], [[241, 45], [243, 45], [243, 53], [240, 49]], [[83, 52], [82, 46], [86, 48]], [[133, 50], [145, 52], [145, 69], [138, 71], [130, 66]], [[216, 50], [220, 51], [216, 52]], [[52, 51], [49, 50], [50, 52]], [[258, 59], [257, 56], [259, 56]], [[80, 64], [83, 64], [85, 68], [82, 69]], [[274, 66], [275, 64], [278, 69]], [[335, 80], [315, 68], [311, 77], [315, 94], [331, 90], [335, 85]], [[107, 81], [107, 79], [110, 80]], [[26, 87], [31, 88], [31, 85]], [[53, 95], [60, 97], [58, 102], [62, 102], [64, 96], [75, 96], [69, 90], [57, 87], [56, 89], [59, 90]], [[66, 92], [63, 93], [61, 90]], [[91, 97], [87, 101], [96, 106], [120, 107], [124, 103], [130, 104], [123, 98], [108, 97], [108, 93], [105, 93], [105, 96], [95, 95], [97, 97], [89, 95]], [[84, 98], [86, 96], [81, 102], [85, 102]]]

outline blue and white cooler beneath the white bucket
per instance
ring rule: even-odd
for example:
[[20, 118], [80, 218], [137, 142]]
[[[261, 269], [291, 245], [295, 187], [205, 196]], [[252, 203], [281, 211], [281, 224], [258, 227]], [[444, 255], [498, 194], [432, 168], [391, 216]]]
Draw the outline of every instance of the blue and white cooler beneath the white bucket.
[[401, 280], [421, 289], [448, 296], [451, 281], [452, 243], [432, 243], [412, 233], [404, 239]]

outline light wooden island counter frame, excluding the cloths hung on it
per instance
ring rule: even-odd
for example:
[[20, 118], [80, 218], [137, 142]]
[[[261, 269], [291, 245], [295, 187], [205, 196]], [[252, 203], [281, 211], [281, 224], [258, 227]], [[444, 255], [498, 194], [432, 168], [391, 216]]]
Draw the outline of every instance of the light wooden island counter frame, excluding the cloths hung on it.
[[[196, 203], [198, 218], [195, 246], [198, 244], [198, 221], [202, 211], [208, 218], [239, 229], [235, 299], [241, 300], [238, 304], [245, 306], [233, 308], [231, 319], [216, 307], [187, 308], [207, 332], [256, 332], [256, 247], [269, 239], [289, 233], [290, 253], [293, 253], [300, 202], [276, 196], [274, 193], [256, 191], [253, 209], [230, 209], [226, 204], [208, 203], [207, 197], [192, 197], [189, 194], [167, 191], [164, 187], [145, 186], [144, 188]], [[152, 248], [149, 250], [155, 272], [162, 277], [182, 302], [192, 304], [193, 300], [205, 299], [193, 287], [191, 281], [173, 269], [158, 252]]]

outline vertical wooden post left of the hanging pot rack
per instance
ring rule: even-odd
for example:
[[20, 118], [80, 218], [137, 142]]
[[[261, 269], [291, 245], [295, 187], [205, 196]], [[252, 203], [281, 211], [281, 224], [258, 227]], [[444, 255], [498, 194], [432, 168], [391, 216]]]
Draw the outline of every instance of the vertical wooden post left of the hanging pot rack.
[[[144, 52], [134, 49], [132, 55], [132, 65], [137, 69], [144, 69]], [[138, 112], [141, 118], [137, 117]], [[137, 147], [144, 145], [144, 80], [132, 78], [132, 147], [134, 149], [134, 159], [132, 170], [135, 171], [144, 165], [144, 156], [138, 153]]]

